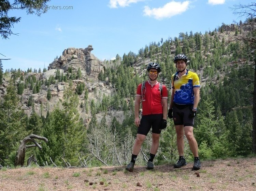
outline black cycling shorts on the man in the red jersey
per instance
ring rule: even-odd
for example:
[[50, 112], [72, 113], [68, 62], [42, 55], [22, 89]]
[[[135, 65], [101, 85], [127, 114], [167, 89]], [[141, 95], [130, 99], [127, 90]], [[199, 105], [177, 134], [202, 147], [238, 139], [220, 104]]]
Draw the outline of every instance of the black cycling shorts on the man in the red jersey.
[[163, 114], [151, 114], [142, 116], [137, 133], [147, 135], [152, 127], [152, 133], [160, 134], [162, 119]]

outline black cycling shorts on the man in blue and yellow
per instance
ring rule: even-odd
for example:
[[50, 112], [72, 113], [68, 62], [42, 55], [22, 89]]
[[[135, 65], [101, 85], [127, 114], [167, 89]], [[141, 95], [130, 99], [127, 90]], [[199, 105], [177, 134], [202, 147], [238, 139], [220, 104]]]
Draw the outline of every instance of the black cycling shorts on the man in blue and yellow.
[[194, 117], [189, 117], [193, 105], [173, 104], [172, 116], [174, 125], [194, 126]]

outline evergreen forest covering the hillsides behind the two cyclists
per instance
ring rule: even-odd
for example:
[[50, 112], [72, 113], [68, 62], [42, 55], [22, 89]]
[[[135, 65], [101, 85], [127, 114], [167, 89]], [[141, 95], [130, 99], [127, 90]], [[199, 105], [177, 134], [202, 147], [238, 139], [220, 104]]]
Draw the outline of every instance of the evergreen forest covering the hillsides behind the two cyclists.
[[[30, 156], [39, 166], [96, 167], [129, 163], [137, 133], [134, 99], [137, 86], [147, 80], [145, 68], [149, 62], [159, 63], [162, 71], [158, 81], [169, 89], [171, 76], [176, 72], [173, 58], [180, 53], [187, 55], [187, 68], [200, 79], [200, 102], [194, 126], [200, 159], [255, 155], [255, 23], [255, 12], [252, 12], [240, 23], [222, 23], [203, 33], [180, 32], [177, 37], [150, 42], [138, 53], [124, 53], [122, 57], [117, 54], [114, 60], [104, 60], [104, 69], [96, 80], [105, 82], [111, 94], [100, 88], [89, 92], [86, 83], [90, 76], [82, 79], [80, 68], [77, 71], [70, 68], [65, 74], [57, 70], [55, 76], [39, 79], [27, 74], [42, 73], [46, 68], [3, 71], [0, 60], [0, 86], [4, 79], [8, 81], [0, 100], [0, 168], [15, 166], [20, 141], [30, 134], [45, 137], [48, 142], [38, 141], [41, 150], [27, 145], [25, 165]], [[84, 82], [74, 84], [76, 79]], [[63, 99], [54, 108], [41, 104], [38, 112], [31, 96], [26, 101], [22, 99], [24, 93], [41, 93], [45, 86], [58, 82], [66, 86]], [[45, 95], [51, 101], [49, 88]], [[24, 104], [31, 108], [30, 114], [22, 109]], [[87, 125], [82, 118], [85, 115]], [[149, 133], [137, 158], [138, 165], [146, 164], [150, 146]], [[184, 151], [186, 159], [194, 159], [187, 141]], [[173, 163], [178, 156], [174, 124], [168, 119], [154, 163]]]

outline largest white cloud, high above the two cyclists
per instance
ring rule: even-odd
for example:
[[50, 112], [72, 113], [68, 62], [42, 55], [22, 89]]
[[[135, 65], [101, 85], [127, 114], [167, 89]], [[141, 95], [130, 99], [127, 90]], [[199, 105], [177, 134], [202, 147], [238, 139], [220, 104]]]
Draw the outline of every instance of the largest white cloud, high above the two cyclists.
[[163, 5], [163, 7], [152, 9], [145, 6], [143, 12], [145, 16], [154, 17], [155, 19], [160, 20], [162, 18], [170, 18], [174, 15], [185, 12], [188, 9], [189, 3], [190, 1], [184, 1], [183, 3], [171, 1]]

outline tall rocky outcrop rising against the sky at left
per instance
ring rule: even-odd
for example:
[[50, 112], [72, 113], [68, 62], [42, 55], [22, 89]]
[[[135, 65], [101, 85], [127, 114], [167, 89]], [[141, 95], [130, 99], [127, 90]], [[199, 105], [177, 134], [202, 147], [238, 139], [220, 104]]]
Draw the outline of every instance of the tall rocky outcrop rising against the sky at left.
[[97, 77], [103, 69], [103, 64], [97, 57], [91, 54], [92, 50], [93, 47], [91, 45], [85, 49], [65, 49], [58, 59], [49, 64], [48, 70], [62, 69], [66, 72], [71, 67], [73, 71], [77, 71], [80, 67], [83, 77], [86, 75]]

